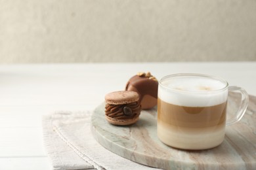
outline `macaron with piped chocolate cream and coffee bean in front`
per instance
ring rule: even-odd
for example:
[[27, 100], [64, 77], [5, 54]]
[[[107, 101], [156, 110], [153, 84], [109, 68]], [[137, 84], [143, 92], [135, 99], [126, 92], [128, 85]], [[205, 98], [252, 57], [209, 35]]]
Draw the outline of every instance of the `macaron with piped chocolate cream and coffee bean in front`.
[[139, 120], [141, 106], [137, 92], [108, 93], [105, 95], [105, 103], [105, 117], [110, 124], [125, 126]]

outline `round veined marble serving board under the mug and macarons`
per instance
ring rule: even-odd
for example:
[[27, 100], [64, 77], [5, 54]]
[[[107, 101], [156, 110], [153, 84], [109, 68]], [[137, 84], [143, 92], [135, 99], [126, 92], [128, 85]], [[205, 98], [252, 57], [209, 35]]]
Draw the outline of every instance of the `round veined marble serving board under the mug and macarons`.
[[[231, 95], [228, 112], [234, 112], [239, 96]], [[240, 122], [226, 127], [221, 145], [209, 150], [188, 151], [171, 148], [157, 137], [157, 110], [142, 110], [131, 126], [114, 126], [104, 118], [104, 103], [91, 118], [96, 141], [123, 158], [161, 169], [256, 169], [256, 97]]]

